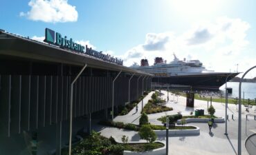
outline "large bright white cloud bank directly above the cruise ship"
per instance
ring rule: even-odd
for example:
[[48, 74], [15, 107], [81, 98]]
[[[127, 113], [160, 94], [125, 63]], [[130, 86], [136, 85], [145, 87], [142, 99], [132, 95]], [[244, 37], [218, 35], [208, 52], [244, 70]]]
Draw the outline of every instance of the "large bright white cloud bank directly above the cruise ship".
[[[219, 72], [236, 70], [238, 61], [244, 56], [249, 45], [246, 33], [250, 24], [241, 19], [220, 17], [215, 21], [204, 21], [192, 25], [183, 34], [174, 32], [149, 33], [145, 36], [145, 43], [136, 45], [122, 55], [124, 65], [130, 66], [140, 59], [147, 58], [149, 65], [154, 63], [156, 56], [170, 62], [173, 54], [180, 59], [188, 56], [199, 59], [206, 68]], [[175, 35], [174, 35], [175, 34]], [[145, 46], [147, 48], [145, 48]], [[252, 64], [252, 63], [250, 63]], [[248, 65], [239, 65], [241, 70], [246, 70]]]

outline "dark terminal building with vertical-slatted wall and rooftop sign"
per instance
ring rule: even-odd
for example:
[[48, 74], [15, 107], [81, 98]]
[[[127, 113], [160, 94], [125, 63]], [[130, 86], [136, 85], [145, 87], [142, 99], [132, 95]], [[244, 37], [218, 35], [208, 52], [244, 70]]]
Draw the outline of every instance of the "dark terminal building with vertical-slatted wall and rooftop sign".
[[75, 141], [77, 132], [91, 132], [91, 120], [111, 119], [112, 108], [116, 114], [151, 88], [152, 74], [87, 47], [91, 54], [81, 46], [77, 52], [68, 41], [50, 42], [0, 30], [0, 154], [60, 154], [68, 145], [70, 114]]

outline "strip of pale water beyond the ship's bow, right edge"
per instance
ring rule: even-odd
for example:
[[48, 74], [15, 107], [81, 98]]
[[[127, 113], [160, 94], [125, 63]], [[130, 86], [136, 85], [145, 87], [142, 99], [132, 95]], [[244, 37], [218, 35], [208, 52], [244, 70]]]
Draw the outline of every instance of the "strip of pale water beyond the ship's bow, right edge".
[[[232, 87], [232, 94], [228, 94], [228, 97], [238, 98], [239, 82], [228, 82], [227, 87]], [[225, 85], [222, 85], [219, 90], [225, 96]], [[256, 99], [256, 83], [241, 83], [241, 99]]]

